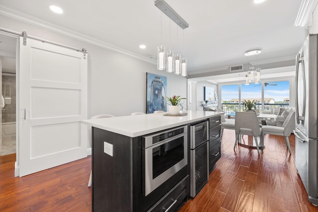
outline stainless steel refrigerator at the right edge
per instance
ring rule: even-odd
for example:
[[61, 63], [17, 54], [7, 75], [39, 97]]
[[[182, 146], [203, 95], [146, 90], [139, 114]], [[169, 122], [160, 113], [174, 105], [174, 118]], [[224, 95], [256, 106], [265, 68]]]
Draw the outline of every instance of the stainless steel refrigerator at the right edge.
[[318, 205], [318, 34], [309, 35], [296, 56], [295, 160], [309, 201]]

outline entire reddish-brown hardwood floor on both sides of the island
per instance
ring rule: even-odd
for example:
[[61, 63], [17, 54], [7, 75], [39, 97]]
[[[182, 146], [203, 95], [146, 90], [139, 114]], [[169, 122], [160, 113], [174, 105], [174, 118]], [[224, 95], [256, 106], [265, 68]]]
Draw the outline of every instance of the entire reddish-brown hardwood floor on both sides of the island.
[[[318, 212], [309, 201], [284, 137], [266, 136], [261, 155], [238, 146], [225, 130], [222, 157], [201, 192], [180, 212]], [[15, 154], [0, 156], [0, 212], [88, 212], [91, 158], [14, 177]]]

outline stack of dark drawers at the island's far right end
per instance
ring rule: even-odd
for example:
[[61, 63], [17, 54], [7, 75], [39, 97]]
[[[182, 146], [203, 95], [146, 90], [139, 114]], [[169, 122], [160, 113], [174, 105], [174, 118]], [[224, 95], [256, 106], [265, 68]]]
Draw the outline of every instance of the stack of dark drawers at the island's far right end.
[[210, 173], [215, 163], [221, 157], [221, 116], [209, 119], [209, 170]]

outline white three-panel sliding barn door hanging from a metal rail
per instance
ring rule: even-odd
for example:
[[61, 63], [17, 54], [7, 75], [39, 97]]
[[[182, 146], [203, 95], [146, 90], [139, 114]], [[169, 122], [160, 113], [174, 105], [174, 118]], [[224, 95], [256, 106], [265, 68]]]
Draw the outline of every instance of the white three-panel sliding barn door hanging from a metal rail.
[[19, 175], [87, 156], [87, 55], [27, 39], [19, 49]]

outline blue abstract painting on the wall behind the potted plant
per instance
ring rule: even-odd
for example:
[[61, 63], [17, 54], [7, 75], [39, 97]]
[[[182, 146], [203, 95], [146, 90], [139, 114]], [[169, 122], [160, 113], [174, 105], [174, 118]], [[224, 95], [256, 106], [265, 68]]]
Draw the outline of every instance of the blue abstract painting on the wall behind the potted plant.
[[167, 111], [167, 77], [147, 72], [147, 113]]

